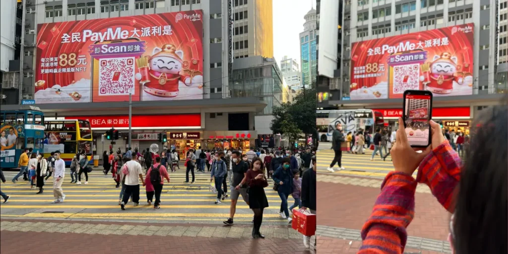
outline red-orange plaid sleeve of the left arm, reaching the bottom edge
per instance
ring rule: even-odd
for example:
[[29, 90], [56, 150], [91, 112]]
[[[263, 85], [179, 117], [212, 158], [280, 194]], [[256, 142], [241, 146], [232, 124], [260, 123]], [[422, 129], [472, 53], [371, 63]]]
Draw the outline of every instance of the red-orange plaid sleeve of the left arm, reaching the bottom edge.
[[406, 227], [415, 215], [417, 182], [410, 175], [392, 171], [381, 185], [381, 193], [362, 228], [358, 253], [403, 253]]

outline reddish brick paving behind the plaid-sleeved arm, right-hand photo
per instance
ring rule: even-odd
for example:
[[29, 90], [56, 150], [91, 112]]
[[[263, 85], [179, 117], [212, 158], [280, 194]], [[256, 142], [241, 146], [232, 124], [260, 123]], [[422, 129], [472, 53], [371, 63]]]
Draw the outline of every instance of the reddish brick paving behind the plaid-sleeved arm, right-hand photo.
[[[379, 192], [374, 187], [320, 181], [317, 225], [361, 230]], [[415, 218], [407, 228], [408, 235], [446, 240], [450, 214], [431, 194], [416, 193], [415, 202]]]

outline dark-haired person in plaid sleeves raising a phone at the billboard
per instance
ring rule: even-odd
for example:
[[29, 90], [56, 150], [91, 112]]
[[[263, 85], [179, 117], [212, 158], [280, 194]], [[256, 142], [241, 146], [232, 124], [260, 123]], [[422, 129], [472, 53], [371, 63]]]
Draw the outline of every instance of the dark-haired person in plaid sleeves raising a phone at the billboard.
[[[451, 253], [507, 253], [507, 115], [505, 105], [475, 115], [466, 161], [461, 161], [446, 141], [438, 123], [430, 121], [432, 142], [422, 153], [410, 147], [404, 129], [399, 127], [392, 148], [395, 170], [385, 177], [372, 214], [362, 228], [359, 253], [404, 252], [406, 228], [418, 216], [418, 183], [427, 184], [436, 200], [452, 213], [446, 224]], [[403, 124], [401, 118], [399, 122]], [[417, 168], [415, 180], [412, 175]]]

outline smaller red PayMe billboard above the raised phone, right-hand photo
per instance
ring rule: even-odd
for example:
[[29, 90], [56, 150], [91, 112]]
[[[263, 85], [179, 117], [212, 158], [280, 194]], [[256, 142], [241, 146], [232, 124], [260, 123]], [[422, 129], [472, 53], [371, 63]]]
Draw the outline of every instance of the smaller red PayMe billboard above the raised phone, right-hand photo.
[[472, 94], [473, 23], [352, 44], [351, 100]]

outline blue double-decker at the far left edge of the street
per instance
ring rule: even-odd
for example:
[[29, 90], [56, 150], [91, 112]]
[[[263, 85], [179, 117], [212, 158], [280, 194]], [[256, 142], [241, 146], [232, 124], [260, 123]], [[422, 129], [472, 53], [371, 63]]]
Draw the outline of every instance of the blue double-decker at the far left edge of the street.
[[0, 167], [17, 168], [24, 148], [43, 152], [44, 113], [34, 106], [23, 105], [19, 110], [1, 110]]

